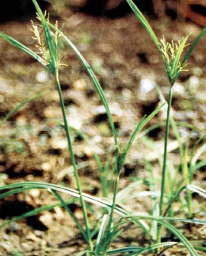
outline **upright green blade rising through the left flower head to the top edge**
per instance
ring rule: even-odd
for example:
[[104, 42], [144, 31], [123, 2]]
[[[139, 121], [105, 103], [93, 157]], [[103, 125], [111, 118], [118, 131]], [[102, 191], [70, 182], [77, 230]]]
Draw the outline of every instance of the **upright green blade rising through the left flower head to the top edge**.
[[48, 22], [45, 18], [45, 16], [42, 13], [41, 8], [39, 7], [38, 3], [36, 0], [32, 0], [36, 11], [41, 19], [42, 22], [42, 26], [43, 26], [43, 30], [44, 30], [44, 35], [46, 38], [46, 42], [47, 42], [47, 46], [49, 48], [49, 53], [50, 53], [50, 57], [51, 57], [51, 65], [52, 65], [52, 73], [56, 74], [57, 71], [57, 62], [56, 62], [56, 50], [55, 50], [55, 46], [54, 46], [54, 42], [52, 40], [52, 35], [51, 35], [51, 31], [48, 25]]

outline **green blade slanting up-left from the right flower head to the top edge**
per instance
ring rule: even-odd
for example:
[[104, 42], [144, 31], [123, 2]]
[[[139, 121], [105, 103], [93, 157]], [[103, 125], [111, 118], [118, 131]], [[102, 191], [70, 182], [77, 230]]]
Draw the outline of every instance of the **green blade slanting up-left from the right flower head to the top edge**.
[[160, 49], [159, 41], [158, 41], [156, 35], [154, 34], [152, 27], [149, 25], [148, 21], [146, 20], [145, 16], [140, 12], [140, 10], [137, 8], [137, 6], [134, 4], [134, 2], [132, 0], [126, 0], [126, 1], [129, 4], [129, 6], [131, 7], [131, 9], [133, 10], [133, 12], [135, 13], [135, 15], [137, 16], [137, 18], [139, 19], [139, 21], [144, 26], [144, 28], [146, 29], [146, 31], [148, 32], [150, 37], [152, 38], [152, 40], [154, 41], [157, 48]]

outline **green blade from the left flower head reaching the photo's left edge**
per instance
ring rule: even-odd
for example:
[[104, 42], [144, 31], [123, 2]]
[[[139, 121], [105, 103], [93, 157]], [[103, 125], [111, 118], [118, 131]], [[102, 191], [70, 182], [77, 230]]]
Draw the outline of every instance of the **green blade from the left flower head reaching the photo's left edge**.
[[12, 44], [13, 46], [19, 48], [20, 50], [22, 50], [23, 52], [27, 53], [29, 56], [31, 56], [32, 58], [34, 58], [35, 60], [37, 60], [39, 63], [41, 63], [44, 67], [46, 67], [47, 69], [48, 66], [45, 63], [45, 61], [39, 56], [37, 55], [35, 52], [33, 52], [32, 50], [30, 50], [28, 47], [26, 47], [25, 45], [21, 44], [20, 42], [16, 41], [14, 38], [12, 38], [11, 36], [6, 35], [3, 32], [0, 32], [0, 36], [2, 36], [6, 41], [8, 41], [10, 44]]

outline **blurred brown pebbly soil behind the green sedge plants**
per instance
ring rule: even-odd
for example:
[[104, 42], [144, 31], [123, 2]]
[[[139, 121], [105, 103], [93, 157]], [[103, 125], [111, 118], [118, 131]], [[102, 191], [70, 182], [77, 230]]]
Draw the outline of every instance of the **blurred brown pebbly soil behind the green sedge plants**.
[[[139, 7], [158, 38], [164, 35], [167, 40], [176, 41], [190, 33], [189, 42], [192, 42], [200, 33], [202, 27], [185, 19], [178, 2], [157, 1], [158, 4], [154, 5], [152, 1], [144, 2]], [[167, 98], [168, 82], [158, 50], [126, 3], [109, 10], [103, 4], [94, 8], [91, 3], [84, 7], [64, 5], [60, 8], [55, 3], [46, 7], [52, 21], [58, 19], [60, 25], [64, 23], [65, 35], [95, 70], [108, 99], [119, 142], [124, 144], [140, 118], [151, 113], [159, 104], [155, 90], [147, 92], [145, 86], [156, 81]], [[33, 8], [30, 5], [21, 8], [16, 5], [8, 14], [9, 7], [8, 3], [2, 8], [0, 31], [34, 50], [30, 31], [30, 18], [34, 19]], [[43, 2], [42, 7], [45, 7]], [[189, 59], [189, 71], [180, 76], [173, 90], [173, 117], [176, 121], [188, 122], [195, 127], [192, 135], [194, 141], [205, 133], [206, 128], [205, 51], [203, 36]], [[80, 61], [66, 44], [62, 45], [61, 56], [62, 62], [68, 65], [61, 67], [60, 80], [69, 123], [90, 138], [104, 162], [114, 149], [114, 142], [102, 103]], [[39, 63], [2, 38], [0, 67], [1, 118], [21, 101], [44, 92], [41, 97], [23, 106], [0, 128], [1, 183], [35, 180], [76, 188], [69, 168], [71, 161], [64, 128], [58, 123], [58, 120], [62, 120], [61, 107], [52, 76]], [[162, 111], [147, 127], [164, 120], [165, 113]], [[185, 141], [191, 129], [181, 126], [180, 132]], [[80, 136], [74, 132], [71, 134], [77, 163], [83, 166], [79, 173], [84, 191], [101, 197], [98, 169], [92, 151]], [[164, 128], [156, 128], [147, 135], [155, 148], [163, 150]], [[168, 157], [178, 167], [180, 160], [175, 143], [171, 132]], [[145, 159], [151, 161], [155, 177], [160, 181], [158, 152], [148, 145], [149, 142], [142, 138], [136, 139], [123, 168], [119, 189], [136, 179], [147, 180]], [[205, 153], [201, 159], [204, 156]], [[205, 188], [204, 169], [197, 170], [194, 177], [193, 184]], [[136, 192], [144, 190], [148, 190], [148, 186], [143, 182]], [[62, 197], [68, 199], [65, 195]], [[193, 199], [194, 217], [205, 218], [205, 201], [196, 194]], [[1, 201], [0, 221], [54, 202], [56, 199], [49, 192], [36, 189], [9, 197]], [[151, 210], [150, 198], [131, 200], [128, 205], [139, 212]], [[71, 209], [81, 221], [78, 202], [74, 202]], [[93, 224], [95, 217], [90, 214], [89, 218]], [[190, 229], [181, 223], [177, 226], [192, 240], [206, 237], [205, 229], [200, 226], [194, 225]], [[10, 224], [0, 231], [0, 237], [0, 255], [12, 255], [12, 249], [23, 255], [75, 255], [86, 246], [72, 219], [60, 207]], [[165, 233], [164, 240], [168, 239], [171, 237]], [[142, 230], [131, 226], [114, 241], [112, 248], [148, 244]], [[162, 255], [188, 254], [183, 248], [176, 248]]]

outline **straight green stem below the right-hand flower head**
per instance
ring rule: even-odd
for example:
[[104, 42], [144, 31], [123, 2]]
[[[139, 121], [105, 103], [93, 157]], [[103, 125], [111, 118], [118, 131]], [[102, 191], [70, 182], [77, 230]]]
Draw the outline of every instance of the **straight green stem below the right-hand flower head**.
[[[164, 158], [163, 158], [163, 170], [162, 170], [161, 195], [160, 195], [160, 203], [159, 203], [160, 216], [162, 215], [162, 212], [163, 212], [163, 202], [164, 202], [164, 186], [165, 186], [166, 165], [167, 165], [167, 142], [168, 142], [168, 136], [169, 136], [169, 127], [170, 127], [171, 104], [172, 104], [172, 85], [170, 85], [170, 89], [169, 89], [167, 119], [166, 119], [165, 138], [164, 138]], [[161, 241], [161, 225], [158, 225], [157, 241], [159, 241], [159, 242]]]

